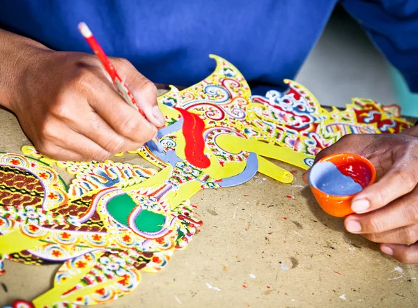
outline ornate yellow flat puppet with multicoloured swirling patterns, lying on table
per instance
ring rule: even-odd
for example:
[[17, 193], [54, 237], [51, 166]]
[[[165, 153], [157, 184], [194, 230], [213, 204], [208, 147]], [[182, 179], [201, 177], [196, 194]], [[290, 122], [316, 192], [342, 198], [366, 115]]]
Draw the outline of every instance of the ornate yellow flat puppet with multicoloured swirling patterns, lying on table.
[[[240, 185], [257, 172], [291, 183], [291, 172], [267, 158], [308, 169], [343, 134], [410, 125], [396, 107], [371, 100], [328, 112], [291, 81], [286, 93], [251, 97], [240, 72], [212, 58], [212, 75], [158, 98], [167, 118], [157, 134], [164, 152], [153, 144], [130, 152], [158, 172], [121, 162], [58, 162], [30, 146], [22, 148], [25, 156], [0, 154], [0, 274], [3, 259], [63, 263], [54, 286], [27, 307], [116, 300], [139, 284], [142, 270], [161, 270], [192, 240], [202, 222], [189, 199], [200, 190]], [[68, 187], [54, 165], [75, 176]]]

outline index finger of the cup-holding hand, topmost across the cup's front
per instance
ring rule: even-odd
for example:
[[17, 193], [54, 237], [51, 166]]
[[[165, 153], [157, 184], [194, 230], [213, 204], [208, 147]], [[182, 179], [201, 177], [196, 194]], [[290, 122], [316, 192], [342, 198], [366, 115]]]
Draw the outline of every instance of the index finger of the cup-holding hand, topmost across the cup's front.
[[411, 192], [417, 185], [416, 169], [403, 160], [395, 162], [392, 169], [382, 176], [378, 183], [366, 187], [351, 202], [355, 213], [367, 213], [382, 208], [388, 203]]

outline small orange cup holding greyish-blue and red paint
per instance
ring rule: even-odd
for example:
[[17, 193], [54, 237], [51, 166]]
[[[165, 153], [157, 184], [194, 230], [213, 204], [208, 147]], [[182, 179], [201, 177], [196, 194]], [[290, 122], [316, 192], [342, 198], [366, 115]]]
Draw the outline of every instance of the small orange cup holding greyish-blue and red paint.
[[316, 201], [325, 213], [335, 217], [353, 214], [351, 200], [375, 180], [373, 164], [350, 153], [324, 157], [309, 171], [309, 185]]

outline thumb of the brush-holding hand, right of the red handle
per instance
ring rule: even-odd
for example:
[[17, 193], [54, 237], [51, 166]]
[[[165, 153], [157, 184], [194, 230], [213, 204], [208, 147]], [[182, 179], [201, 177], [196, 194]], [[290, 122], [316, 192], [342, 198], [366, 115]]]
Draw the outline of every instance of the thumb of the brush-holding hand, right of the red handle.
[[130, 89], [136, 102], [150, 123], [157, 128], [164, 126], [165, 118], [157, 105], [157, 87], [149, 79], [141, 75], [132, 64], [125, 59], [117, 59], [115, 66], [121, 71], [123, 82]]

